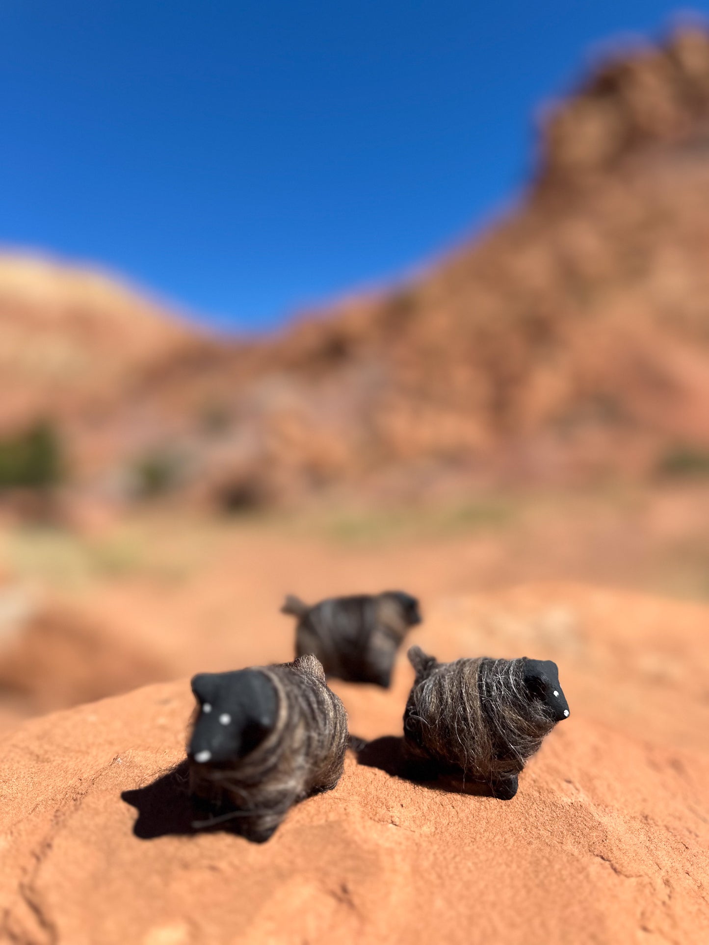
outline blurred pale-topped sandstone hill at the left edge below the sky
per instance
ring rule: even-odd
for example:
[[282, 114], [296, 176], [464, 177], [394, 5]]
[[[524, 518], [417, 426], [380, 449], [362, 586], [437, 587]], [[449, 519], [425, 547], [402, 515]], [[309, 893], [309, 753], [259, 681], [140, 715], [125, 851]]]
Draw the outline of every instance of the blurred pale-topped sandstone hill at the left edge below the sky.
[[189, 335], [109, 276], [0, 256], [0, 420], [61, 415], [105, 398]]

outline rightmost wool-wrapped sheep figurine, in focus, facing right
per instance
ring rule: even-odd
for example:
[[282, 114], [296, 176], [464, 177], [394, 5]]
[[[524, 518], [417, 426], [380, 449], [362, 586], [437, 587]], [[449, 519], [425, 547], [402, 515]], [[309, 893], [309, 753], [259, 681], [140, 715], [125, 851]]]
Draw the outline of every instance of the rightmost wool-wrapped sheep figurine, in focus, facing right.
[[437, 662], [419, 646], [404, 713], [409, 765], [486, 782], [493, 796], [513, 798], [527, 758], [568, 717], [559, 670], [550, 660]]

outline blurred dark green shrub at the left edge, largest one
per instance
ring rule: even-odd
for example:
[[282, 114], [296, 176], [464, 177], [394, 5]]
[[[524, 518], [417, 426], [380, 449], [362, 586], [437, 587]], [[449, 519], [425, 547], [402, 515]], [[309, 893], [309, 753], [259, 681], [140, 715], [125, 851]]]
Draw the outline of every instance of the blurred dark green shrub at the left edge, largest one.
[[0, 490], [48, 490], [61, 481], [61, 444], [48, 421], [0, 438]]

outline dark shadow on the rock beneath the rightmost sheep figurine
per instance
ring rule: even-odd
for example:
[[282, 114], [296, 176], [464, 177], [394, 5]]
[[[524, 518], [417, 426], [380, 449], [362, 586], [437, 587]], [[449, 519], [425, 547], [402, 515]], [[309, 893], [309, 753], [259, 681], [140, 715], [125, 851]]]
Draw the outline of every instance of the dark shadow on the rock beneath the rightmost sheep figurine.
[[392, 778], [402, 778], [437, 791], [451, 794], [472, 794], [476, 797], [498, 797], [493, 786], [487, 782], [471, 781], [458, 770], [442, 770], [439, 766], [425, 762], [413, 762], [406, 758], [405, 741], [396, 735], [385, 735], [372, 742], [352, 736], [350, 747], [355, 752], [358, 765], [379, 768]]

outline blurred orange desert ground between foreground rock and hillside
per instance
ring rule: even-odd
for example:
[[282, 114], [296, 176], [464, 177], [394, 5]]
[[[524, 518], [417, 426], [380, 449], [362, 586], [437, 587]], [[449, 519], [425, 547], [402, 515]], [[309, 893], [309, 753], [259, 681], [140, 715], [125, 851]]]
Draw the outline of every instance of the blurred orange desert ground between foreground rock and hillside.
[[85, 512], [72, 529], [8, 524], [6, 716], [289, 659], [286, 593], [315, 602], [403, 588], [421, 599], [426, 625], [462, 597], [559, 581], [701, 601], [707, 522], [709, 489], [696, 482], [389, 510], [206, 517], [158, 507], [128, 519]]

